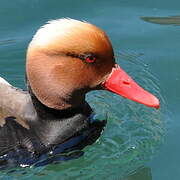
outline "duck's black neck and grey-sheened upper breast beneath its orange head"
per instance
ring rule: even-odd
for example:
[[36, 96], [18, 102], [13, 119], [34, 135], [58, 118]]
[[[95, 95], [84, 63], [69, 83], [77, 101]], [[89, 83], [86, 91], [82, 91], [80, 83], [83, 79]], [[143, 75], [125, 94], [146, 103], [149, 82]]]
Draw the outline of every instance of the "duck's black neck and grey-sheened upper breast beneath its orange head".
[[30, 127], [45, 146], [62, 143], [89, 128], [92, 109], [86, 101], [77, 108], [56, 110], [43, 105], [30, 86], [28, 91], [37, 112], [37, 121], [31, 121]]

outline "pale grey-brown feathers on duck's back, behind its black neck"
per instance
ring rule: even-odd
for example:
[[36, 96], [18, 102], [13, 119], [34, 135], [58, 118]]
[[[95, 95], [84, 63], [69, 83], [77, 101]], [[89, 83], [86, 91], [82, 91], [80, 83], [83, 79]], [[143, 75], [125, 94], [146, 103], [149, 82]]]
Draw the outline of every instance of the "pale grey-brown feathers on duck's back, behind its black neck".
[[27, 121], [36, 116], [29, 93], [14, 88], [0, 78], [0, 126], [5, 118], [13, 116], [23, 127], [28, 128]]

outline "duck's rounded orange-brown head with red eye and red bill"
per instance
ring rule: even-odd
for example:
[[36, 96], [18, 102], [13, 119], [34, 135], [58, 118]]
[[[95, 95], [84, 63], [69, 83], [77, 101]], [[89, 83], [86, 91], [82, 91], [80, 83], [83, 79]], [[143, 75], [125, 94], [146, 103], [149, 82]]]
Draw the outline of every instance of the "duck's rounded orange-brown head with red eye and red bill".
[[32, 92], [50, 108], [79, 106], [94, 89], [159, 107], [158, 99], [115, 63], [105, 32], [87, 22], [59, 19], [41, 27], [28, 47], [26, 72]]

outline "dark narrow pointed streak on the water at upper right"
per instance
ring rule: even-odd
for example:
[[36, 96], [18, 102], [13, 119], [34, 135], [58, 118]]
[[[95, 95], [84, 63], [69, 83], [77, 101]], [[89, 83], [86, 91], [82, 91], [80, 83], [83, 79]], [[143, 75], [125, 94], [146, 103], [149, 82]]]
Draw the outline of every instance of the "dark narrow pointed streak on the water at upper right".
[[161, 25], [180, 25], [180, 16], [141, 17], [144, 21]]

